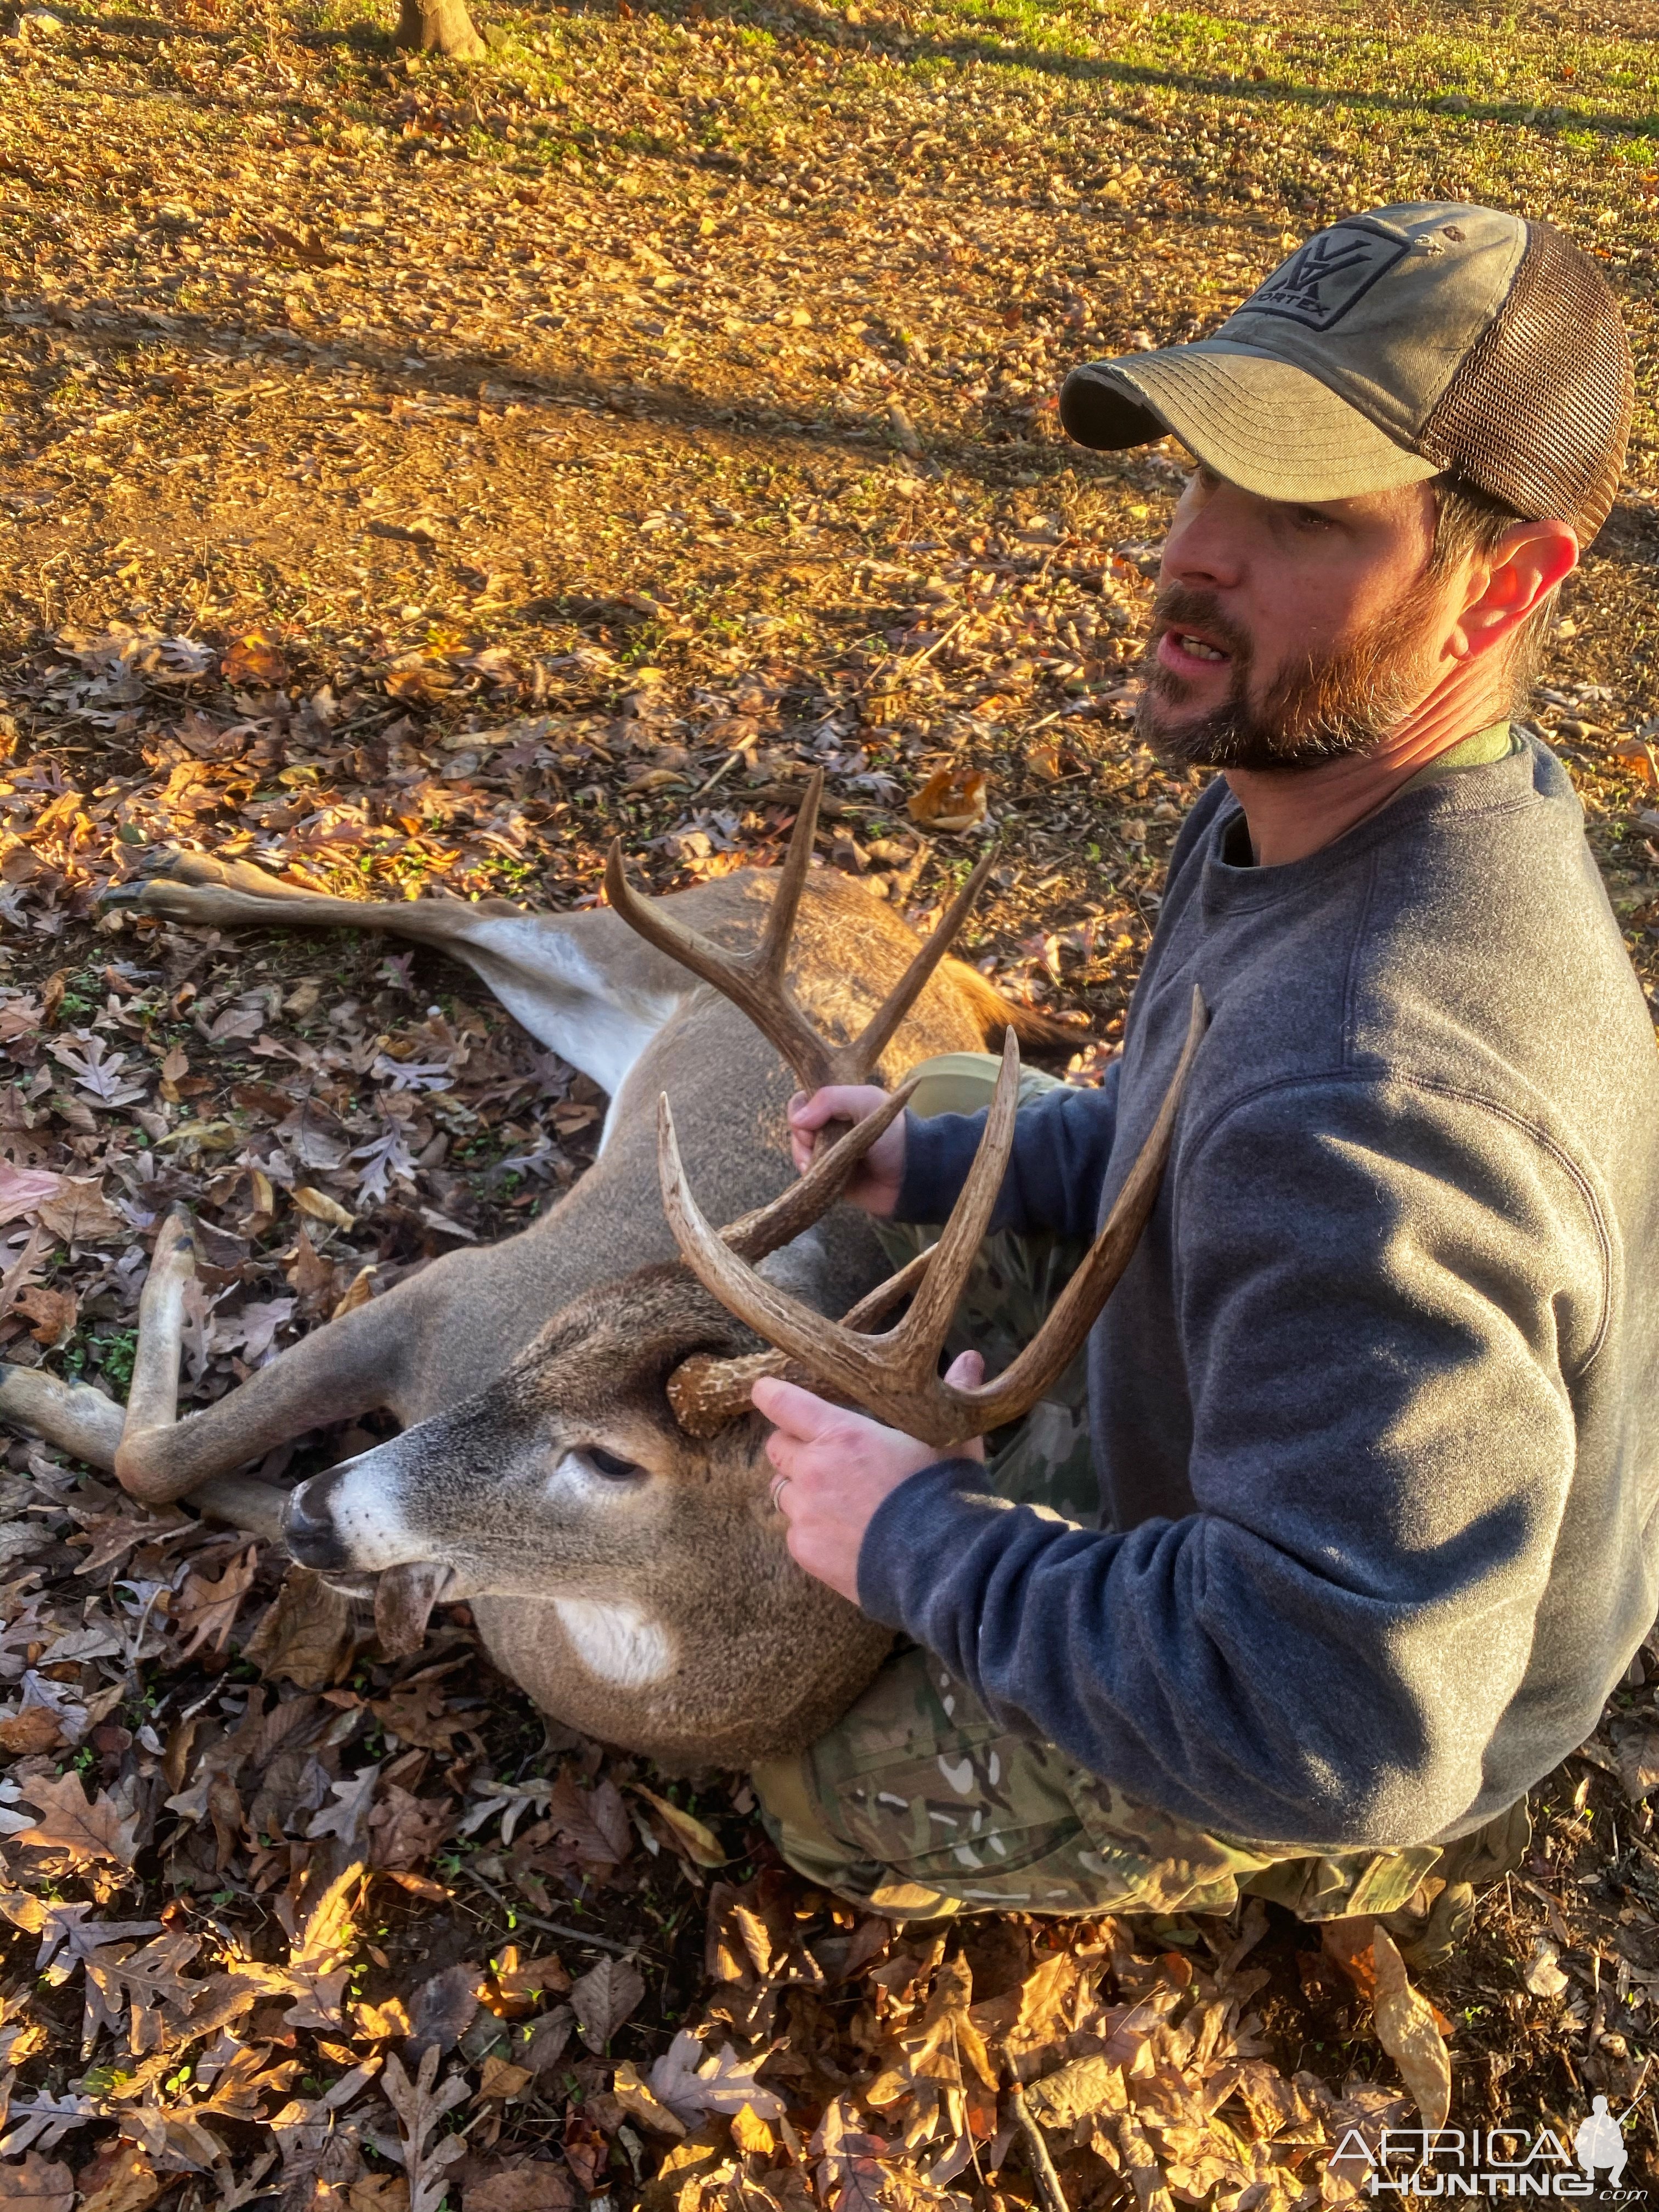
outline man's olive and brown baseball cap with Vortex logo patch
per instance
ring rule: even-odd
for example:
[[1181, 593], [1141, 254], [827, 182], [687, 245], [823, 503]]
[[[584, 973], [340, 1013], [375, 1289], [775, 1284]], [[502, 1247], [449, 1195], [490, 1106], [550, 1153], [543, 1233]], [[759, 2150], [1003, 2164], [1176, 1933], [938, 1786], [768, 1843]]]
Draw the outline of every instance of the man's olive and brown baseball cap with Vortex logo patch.
[[1172, 431], [1267, 500], [1449, 471], [1588, 544], [1632, 389], [1617, 301], [1582, 248], [1498, 208], [1418, 204], [1321, 230], [1212, 338], [1073, 369], [1060, 416], [1104, 449]]

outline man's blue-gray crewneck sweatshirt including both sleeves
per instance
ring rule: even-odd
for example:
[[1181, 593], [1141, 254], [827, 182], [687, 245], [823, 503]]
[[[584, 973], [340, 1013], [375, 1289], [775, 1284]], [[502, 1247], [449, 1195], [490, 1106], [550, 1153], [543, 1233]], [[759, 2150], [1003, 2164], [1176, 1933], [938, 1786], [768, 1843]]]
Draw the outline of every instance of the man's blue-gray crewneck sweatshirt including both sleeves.
[[[1659, 1606], [1659, 1057], [1555, 757], [1252, 867], [1217, 779], [1117, 1079], [1020, 1113], [998, 1228], [1093, 1234], [1199, 1048], [1095, 1325], [1102, 1528], [925, 1469], [867, 1613], [1234, 1838], [1449, 1840], [1595, 1728]], [[909, 1124], [942, 1221], [982, 1115]]]

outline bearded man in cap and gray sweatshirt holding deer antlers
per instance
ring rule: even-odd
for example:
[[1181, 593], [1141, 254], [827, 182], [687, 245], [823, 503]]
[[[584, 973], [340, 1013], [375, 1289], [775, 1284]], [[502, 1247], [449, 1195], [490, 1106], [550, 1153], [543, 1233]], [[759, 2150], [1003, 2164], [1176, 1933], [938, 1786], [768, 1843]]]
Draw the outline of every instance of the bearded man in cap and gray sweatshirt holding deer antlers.
[[[909, 1639], [757, 1785], [796, 1867], [894, 1913], [1411, 1902], [1422, 1958], [1659, 1604], [1655, 1033], [1571, 783], [1511, 728], [1630, 354], [1546, 226], [1383, 208], [1062, 414], [1194, 456], [1141, 734], [1223, 774], [1108, 1082], [1020, 1113], [980, 1318], [1033, 1239], [1093, 1234], [1194, 984], [1212, 1026], [1088, 1345], [1097, 1526], [1029, 1455], [1006, 1484], [754, 1387], [796, 1559]], [[874, 1097], [796, 1099], [796, 1157]], [[942, 1221], [980, 1121], [914, 1110], [854, 1199]]]

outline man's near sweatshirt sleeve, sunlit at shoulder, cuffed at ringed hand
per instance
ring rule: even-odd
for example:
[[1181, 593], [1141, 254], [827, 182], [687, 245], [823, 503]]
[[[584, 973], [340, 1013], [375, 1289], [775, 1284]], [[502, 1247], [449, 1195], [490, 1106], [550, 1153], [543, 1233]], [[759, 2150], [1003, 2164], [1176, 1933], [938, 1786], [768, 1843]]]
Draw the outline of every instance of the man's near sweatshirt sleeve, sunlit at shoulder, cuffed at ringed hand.
[[1197, 1511], [1097, 1533], [940, 1462], [872, 1520], [860, 1601], [1177, 1818], [1431, 1840], [1526, 1668], [1606, 1298], [1595, 1206], [1511, 1117], [1360, 1079], [1237, 1106], [1175, 1201]]

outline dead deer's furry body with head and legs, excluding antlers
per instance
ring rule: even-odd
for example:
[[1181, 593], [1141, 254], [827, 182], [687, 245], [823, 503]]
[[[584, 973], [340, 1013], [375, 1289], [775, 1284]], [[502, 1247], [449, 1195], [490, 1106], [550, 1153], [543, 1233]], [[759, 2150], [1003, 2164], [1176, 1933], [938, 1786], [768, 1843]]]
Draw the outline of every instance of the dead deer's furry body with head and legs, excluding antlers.
[[[743, 953], [779, 874], [726, 876], [666, 905]], [[157, 1241], [126, 1420], [95, 1391], [9, 1367], [0, 1418], [113, 1464], [142, 1498], [199, 1493], [259, 1526], [270, 1509], [257, 1484], [226, 1482], [234, 1469], [387, 1409], [396, 1438], [288, 1504], [299, 1559], [332, 1577], [447, 1571], [434, 1588], [473, 1604], [491, 1657], [538, 1705], [666, 1763], [743, 1763], [821, 1732], [887, 1635], [790, 1559], [759, 1418], [699, 1440], [666, 1396], [688, 1354], [741, 1356], [759, 1338], [679, 1265], [657, 1179], [657, 1097], [672, 1099], [688, 1172], [717, 1217], [748, 1214], [794, 1183], [783, 1108], [796, 1082], [774, 1046], [608, 909], [358, 905], [195, 854], [126, 902], [197, 925], [380, 927], [442, 947], [611, 1093], [602, 1148], [522, 1234], [438, 1259], [184, 1420], [166, 1301], [190, 1239], [175, 1223]], [[818, 1031], [856, 1031], [914, 953], [902, 920], [854, 880], [805, 878], [790, 982]], [[887, 1066], [978, 1048], [1011, 1013], [949, 962]], [[883, 1259], [863, 1217], [836, 1208], [761, 1272], [838, 1316], [883, 1276]]]

